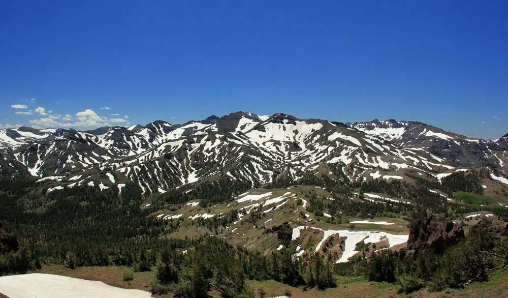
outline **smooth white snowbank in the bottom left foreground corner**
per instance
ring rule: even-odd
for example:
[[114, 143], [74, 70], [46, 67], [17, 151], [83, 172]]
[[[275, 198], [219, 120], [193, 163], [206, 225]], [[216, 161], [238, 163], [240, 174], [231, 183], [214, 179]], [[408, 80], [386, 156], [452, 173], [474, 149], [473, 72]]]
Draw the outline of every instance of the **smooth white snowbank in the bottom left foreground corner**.
[[123, 289], [101, 281], [32, 273], [0, 277], [0, 293], [10, 298], [148, 298], [149, 292]]

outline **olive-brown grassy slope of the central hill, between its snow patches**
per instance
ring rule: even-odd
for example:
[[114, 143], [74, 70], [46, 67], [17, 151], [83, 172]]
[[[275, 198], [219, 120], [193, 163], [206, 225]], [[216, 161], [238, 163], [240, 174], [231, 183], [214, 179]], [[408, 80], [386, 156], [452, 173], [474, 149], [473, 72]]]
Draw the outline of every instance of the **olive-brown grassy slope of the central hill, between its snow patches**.
[[[265, 233], [265, 227], [271, 228], [284, 222], [290, 222], [294, 227], [303, 225], [334, 230], [385, 231], [392, 234], [407, 234], [409, 232], [408, 222], [402, 219], [402, 215], [394, 215], [394, 217], [376, 217], [374, 219], [369, 219], [370, 221], [387, 221], [395, 223], [394, 225], [355, 224], [354, 228], [350, 223], [348, 223], [348, 221], [351, 222], [355, 220], [365, 219], [356, 217], [342, 217], [341, 224], [331, 224], [329, 223], [329, 219], [327, 217], [316, 217], [315, 214], [306, 211], [302, 205], [297, 205], [299, 198], [306, 199], [308, 202], [307, 204], [309, 204], [309, 199], [303, 194], [304, 192], [315, 192], [317, 196], [324, 198], [331, 196], [331, 194], [327, 191], [320, 188], [315, 188], [313, 186], [298, 186], [291, 187], [290, 189], [283, 188], [272, 190], [257, 189], [249, 191], [249, 194], [263, 194], [267, 192], [271, 193], [270, 197], [282, 196], [287, 192], [292, 192], [296, 194], [296, 196], [289, 198], [284, 205], [275, 211], [275, 213], [263, 214], [262, 218], [257, 220], [256, 224], [248, 223], [247, 219], [249, 216], [245, 215], [236, 225], [231, 225], [229, 228], [223, 229], [222, 233], [217, 234], [217, 237], [225, 239], [234, 245], [240, 245], [242, 247], [245, 246], [247, 249], [258, 250], [265, 255], [270, 255], [273, 251], [276, 250], [276, 248], [279, 246], [279, 243], [277, 242], [276, 234]], [[241, 210], [243, 207], [247, 207], [256, 203], [262, 203], [263, 201], [264, 199], [259, 201], [246, 201], [240, 203], [233, 201], [217, 204], [210, 208], [200, 208], [199, 205], [196, 207], [183, 205], [180, 210], [167, 213], [171, 215], [183, 214], [181, 217], [183, 223], [180, 225], [179, 229], [171, 234], [168, 234], [167, 236], [183, 239], [185, 236], [195, 237], [198, 235], [214, 234], [213, 231], [208, 230], [206, 227], [197, 227], [191, 220], [187, 218], [189, 216], [202, 214], [205, 212], [208, 214], [218, 215], [220, 213], [227, 213], [233, 209]], [[275, 207], [277, 204], [278, 203], [265, 206], [263, 209], [267, 210], [269, 207]], [[301, 212], [309, 215], [309, 217], [302, 216]], [[307, 221], [309, 219], [312, 219], [312, 221]], [[321, 239], [316, 239], [313, 244], [317, 244], [320, 240]], [[313, 251], [314, 248], [308, 249]]]

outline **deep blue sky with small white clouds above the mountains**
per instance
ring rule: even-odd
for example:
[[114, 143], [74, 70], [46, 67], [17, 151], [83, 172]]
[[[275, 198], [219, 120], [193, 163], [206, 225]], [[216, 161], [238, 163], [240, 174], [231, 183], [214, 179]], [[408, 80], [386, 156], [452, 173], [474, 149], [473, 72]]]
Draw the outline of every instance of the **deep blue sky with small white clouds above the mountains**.
[[3, 1], [0, 125], [244, 110], [497, 138], [507, 36], [506, 1]]

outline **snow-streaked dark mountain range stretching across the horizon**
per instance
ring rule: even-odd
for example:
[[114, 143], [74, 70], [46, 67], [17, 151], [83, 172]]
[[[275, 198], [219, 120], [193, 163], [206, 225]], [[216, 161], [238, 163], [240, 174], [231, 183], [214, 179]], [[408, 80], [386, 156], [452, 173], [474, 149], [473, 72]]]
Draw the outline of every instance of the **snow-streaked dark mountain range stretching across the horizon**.
[[235, 112], [183, 125], [0, 130], [0, 172], [28, 173], [59, 187], [121, 189], [132, 181], [145, 194], [218, 177], [255, 186], [308, 171], [345, 183], [411, 175], [439, 180], [487, 165], [504, 178], [507, 139], [469, 139], [409, 121], [343, 124]]

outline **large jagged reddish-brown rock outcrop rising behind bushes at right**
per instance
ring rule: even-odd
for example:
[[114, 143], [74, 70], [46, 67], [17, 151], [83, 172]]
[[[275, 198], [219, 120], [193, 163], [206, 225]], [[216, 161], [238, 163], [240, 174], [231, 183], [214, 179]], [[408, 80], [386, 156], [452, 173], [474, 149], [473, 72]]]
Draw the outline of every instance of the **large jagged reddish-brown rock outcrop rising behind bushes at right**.
[[415, 251], [430, 248], [435, 253], [442, 254], [445, 249], [456, 245], [464, 238], [464, 230], [460, 224], [450, 219], [440, 222], [432, 221], [424, 213], [411, 222], [407, 248]]

